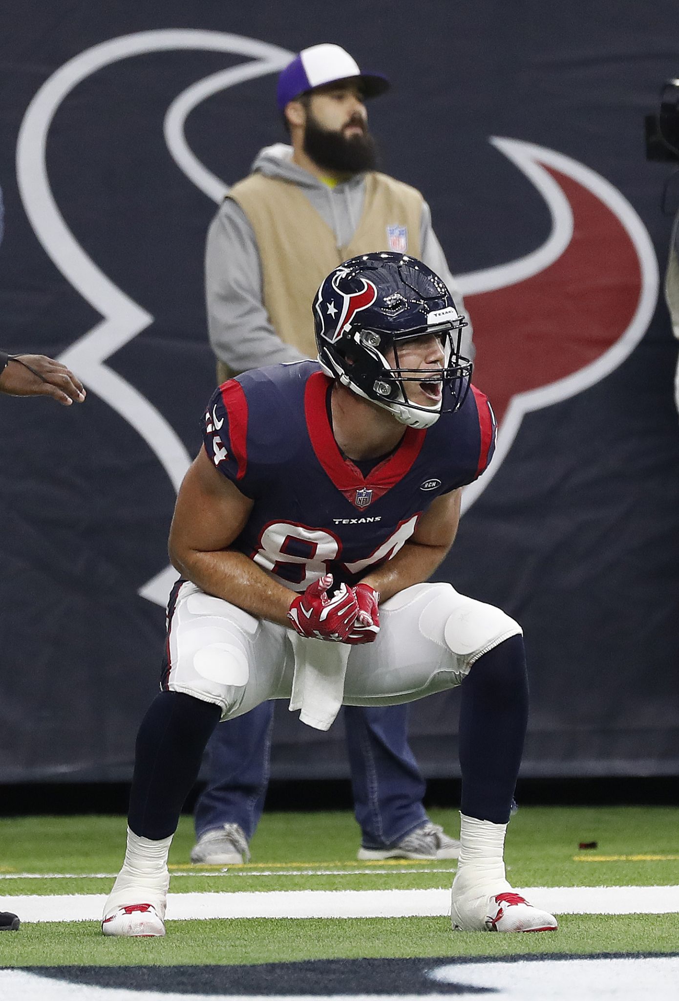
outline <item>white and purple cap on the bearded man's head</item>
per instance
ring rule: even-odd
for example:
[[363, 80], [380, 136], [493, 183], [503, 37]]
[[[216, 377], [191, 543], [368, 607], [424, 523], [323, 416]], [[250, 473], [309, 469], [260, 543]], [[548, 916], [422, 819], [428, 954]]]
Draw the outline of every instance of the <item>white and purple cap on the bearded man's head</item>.
[[377, 97], [390, 87], [386, 76], [362, 73], [356, 60], [340, 45], [323, 42], [302, 49], [281, 72], [278, 107], [282, 111], [288, 101], [294, 101], [300, 94], [338, 80], [359, 80], [364, 97]]

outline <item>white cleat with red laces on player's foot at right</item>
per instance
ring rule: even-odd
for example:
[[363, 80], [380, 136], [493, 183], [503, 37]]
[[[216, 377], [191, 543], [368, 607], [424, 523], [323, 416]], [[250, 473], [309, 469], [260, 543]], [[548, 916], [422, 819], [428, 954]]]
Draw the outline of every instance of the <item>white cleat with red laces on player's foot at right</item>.
[[539, 911], [511, 887], [497, 894], [479, 895], [471, 888], [456, 895], [453, 886], [450, 918], [453, 930], [463, 932], [555, 932], [559, 927], [553, 914]]

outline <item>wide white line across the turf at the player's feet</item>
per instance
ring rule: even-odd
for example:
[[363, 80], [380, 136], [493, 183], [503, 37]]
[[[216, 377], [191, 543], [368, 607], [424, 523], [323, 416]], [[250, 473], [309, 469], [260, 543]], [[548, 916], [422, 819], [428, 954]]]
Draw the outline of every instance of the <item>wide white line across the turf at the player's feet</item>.
[[[531, 887], [536, 907], [555, 914], [672, 914], [678, 886]], [[22, 921], [97, 921], [105, 894], [16, 896], [3, 906]], [[142, 903], [142, 901], [140, 901]], [[294, 890], [270, 893], [171, 893], [167, 916], [189, 918], [403, 918], [443, 917], [450, 890]]]

